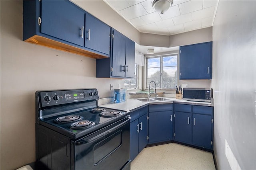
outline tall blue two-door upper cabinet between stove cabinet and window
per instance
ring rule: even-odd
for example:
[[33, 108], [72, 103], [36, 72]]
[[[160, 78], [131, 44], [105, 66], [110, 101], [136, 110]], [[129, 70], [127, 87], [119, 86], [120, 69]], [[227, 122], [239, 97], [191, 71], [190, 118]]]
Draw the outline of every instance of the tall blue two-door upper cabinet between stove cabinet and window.
[[112, 28], [110, 59], [98, 59], [96, 77], [134, 78], [135, 43]]

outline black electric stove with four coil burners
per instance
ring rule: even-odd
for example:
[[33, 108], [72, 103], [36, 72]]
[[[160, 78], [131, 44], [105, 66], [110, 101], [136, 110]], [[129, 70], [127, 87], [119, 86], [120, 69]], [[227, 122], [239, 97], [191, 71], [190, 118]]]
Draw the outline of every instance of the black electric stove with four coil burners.
[[36, 92], [38, 167], [130, 167], [130, 112], [98, 107], [98, 100], [97, 89]]

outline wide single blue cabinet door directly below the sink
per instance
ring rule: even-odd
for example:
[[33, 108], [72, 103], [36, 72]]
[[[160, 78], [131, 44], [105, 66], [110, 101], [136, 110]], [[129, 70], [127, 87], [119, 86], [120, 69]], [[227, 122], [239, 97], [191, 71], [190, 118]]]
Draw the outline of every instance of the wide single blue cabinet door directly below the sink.
[[172, 111], [149, 112], [148, 143], [172, 140]]

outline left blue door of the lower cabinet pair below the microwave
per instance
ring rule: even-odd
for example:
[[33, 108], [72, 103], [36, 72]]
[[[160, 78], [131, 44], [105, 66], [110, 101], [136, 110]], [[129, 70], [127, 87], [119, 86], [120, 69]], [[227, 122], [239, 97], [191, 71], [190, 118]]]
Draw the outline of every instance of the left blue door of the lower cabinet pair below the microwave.
[[191, 113], [174, 113], [174, 140], [184, 143], [191, 143]]

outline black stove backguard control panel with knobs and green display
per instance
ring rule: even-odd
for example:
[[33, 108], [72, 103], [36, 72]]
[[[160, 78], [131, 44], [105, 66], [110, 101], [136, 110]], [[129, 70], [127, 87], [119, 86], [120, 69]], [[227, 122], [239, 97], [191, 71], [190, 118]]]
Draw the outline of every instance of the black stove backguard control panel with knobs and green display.
[[37, 91], [36, 98], [42, 107], [99, 100], [97, 89]]

